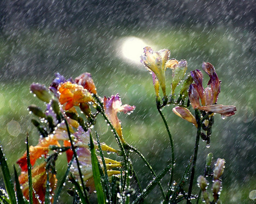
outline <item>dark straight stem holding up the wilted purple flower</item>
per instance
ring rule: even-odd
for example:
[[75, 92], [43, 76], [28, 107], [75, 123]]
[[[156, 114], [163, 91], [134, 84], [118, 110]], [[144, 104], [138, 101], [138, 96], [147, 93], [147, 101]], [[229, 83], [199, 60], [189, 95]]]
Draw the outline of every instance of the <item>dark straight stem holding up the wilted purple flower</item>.
[[191, 176], [189, 181], [187, 204], [191, 203], [190, 199], [191, 199], [191, 193], [192, 193], [192, 187], [193, 187], [193, 180], [195, 177], [197, 152], [199, 148], [199, 139], [201, 134], [201, 120], [200, 120], [200, 112], [198, 109], [195, 109], [195, 115], [196, 115], [196, 123], [197, 123], [196, 144], [194, 148], [193, 163], [192, 163]]

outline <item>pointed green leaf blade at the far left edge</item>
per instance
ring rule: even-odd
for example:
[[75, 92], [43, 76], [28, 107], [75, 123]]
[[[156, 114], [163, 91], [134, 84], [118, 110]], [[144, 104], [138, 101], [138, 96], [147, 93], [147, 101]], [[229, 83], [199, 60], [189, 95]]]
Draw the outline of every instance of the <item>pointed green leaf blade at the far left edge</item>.
[[11, 204], [16, 203], [14, 185], [13, 185], [13, 181], [11, 180], [11, 175], [10, 175], [8, 165], [6, 163], [5, 155], [3, 154], [3, 151], [2, 151], [2, 145], [0, 147], [0, 164], [3, 172], [3, 181], [5, 182], [5, 188], [6, 188], [7, 194], [9, 195], [10, 203]]

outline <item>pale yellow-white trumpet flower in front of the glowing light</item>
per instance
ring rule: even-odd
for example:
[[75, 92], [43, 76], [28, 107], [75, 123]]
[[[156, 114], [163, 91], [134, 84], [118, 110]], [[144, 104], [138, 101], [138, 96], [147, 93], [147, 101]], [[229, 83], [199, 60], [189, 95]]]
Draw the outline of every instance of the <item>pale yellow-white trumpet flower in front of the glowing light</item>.
[[161, 49], [158, 52], [151, 47], [144, 48], [144, 55], [141, 56], [142, 64], [150, 71], [154, 72], [158, 78], [164, 96], [166, 96], [166, 63], [170, 59], [171, 52], [168, 49]]

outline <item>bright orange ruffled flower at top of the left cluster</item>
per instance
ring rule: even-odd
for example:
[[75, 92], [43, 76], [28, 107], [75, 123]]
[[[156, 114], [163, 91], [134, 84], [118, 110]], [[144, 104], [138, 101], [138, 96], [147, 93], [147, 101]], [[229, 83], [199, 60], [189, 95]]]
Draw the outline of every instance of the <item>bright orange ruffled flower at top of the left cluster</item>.
[[60, 104], [65, 105], [65, 110], [71, 109], [73, 106], [79, 106], [80, 103], [92, 102], [92, 95], [88, 90], [77, 84], [72, 84], [70, 81], [61, 84], [58, 88], [60, 92]]

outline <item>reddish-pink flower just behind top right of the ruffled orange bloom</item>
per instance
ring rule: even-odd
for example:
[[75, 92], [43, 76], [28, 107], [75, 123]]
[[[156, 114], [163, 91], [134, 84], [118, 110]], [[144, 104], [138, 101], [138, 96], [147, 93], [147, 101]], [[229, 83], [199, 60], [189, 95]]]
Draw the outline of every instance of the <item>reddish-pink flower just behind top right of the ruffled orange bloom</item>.
[[87, 89], [90, 93], [97, 94], [96, 87], [94, 85], [92, 76], [86, 72], [75, 78], [77, 85], [81, 85], [84, 89]]

